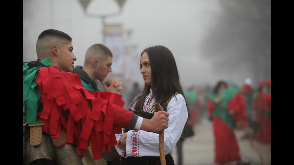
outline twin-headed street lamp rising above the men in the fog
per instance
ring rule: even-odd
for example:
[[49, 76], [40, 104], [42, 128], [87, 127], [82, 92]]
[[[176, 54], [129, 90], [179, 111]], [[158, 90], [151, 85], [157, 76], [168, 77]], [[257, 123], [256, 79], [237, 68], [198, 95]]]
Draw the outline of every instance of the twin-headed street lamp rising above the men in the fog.
[[126, 0], [115, 0], [118, 4], [119, 4], [119, 11], [116, 13], [110, 13], [110, 14], [102, 14], [102, 15], [95, 15], [95, 14], [89, 14], [87, 13], [87, 7], [89, 5], [89, 3], [91, 2], [91, 0], [79, 0], [79, 3], [82, 5], [85, 15], [88, 17], [95, 17], [95, 18], [100, 18], [101, 22], [102, 22], [102, 26], [103, 26], [103, 43], [105, 44], [105, 28], [106, 28], [106, 24], [105, 24], [105, 18], [106, 17], [113, 17], [113, 16], [117, 16], [119, 14], [122, 13], [122, 6], [124, 5]]

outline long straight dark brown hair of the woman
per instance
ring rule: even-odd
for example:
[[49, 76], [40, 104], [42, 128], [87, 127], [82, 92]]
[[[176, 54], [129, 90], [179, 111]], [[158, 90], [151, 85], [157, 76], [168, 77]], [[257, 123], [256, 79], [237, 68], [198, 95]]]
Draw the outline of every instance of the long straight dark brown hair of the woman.
[[[148, 54], [151, 66], [152, 85], [145, 84], [143, 91], [131, 102], [131, 105], [137, 101], [134, 109], [142, 110], [145, 98], [152, 88], [156, 102], [160, 103], [164, 111], [167, 111], [166, 102], [176, 92], [182, 94], [185, 98], [175, 58], [165, 46], [148, 47], [143, 50], [141, 57], [145, 52]], [[181, 137], [180, 140], [184, 141], [184, 138]]]

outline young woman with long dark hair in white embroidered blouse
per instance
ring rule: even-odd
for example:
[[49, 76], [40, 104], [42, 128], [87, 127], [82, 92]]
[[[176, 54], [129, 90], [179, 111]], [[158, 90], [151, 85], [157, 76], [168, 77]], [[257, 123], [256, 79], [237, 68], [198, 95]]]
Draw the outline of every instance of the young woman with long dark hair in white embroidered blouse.
[[[179, 140], [184, 141], [181, 136], [188, 118], [176, 61], [165, 46], [152, 46], [141, 53], [140, 68], [145, 86], [129, 109], [148, 118], [155, 112], [155, 103], [159, 103], [170, 114], [164, 131], [164, 153], [166, 163], [174, 164], [170, 152]], [[121, 164], [160, 164], [158, 138], [154, 132], [124, 130], [117, 136]]]

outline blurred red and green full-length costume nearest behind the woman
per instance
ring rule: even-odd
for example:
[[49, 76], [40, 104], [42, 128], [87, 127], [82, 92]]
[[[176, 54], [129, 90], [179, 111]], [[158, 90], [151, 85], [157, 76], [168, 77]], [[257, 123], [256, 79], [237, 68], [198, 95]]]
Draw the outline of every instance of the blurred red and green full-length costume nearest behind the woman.
[[[222, 98], [222, 101], [215, 104], [213, 102], [215, 97]], [[212, 118], [215, 137], [214, 162], [222, 164], [241, 160], [234, 128], [236, 122], [246, 121], [247, 109], [240, 88], [231, 87], [219, 96], [212, 95], [208, 100], [207, 108]], [[246, 127], [246, 124], [243, 126]]]

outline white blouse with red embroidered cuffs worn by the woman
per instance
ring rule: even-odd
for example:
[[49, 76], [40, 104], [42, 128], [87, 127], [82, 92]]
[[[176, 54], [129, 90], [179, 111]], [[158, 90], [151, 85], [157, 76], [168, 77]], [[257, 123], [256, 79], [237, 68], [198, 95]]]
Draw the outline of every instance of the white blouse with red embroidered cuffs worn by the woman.
[[[155, 98], [152, 90], [146, 96], [143, 110], [148, 112], [155, 105]], [[135, 104], [134, 104], [135, 105]], [[134, 105], [131, 107], [134, 108]], [[181, 94], [174, 96], [167, 106], [170, 113], [168, 128], [164, 130], [164, 153], [167, 155], [176, 146], [182, 135], [184, 125], [188, 118], [188, 111], [184, 97]], [[123, 130], [123, 129], [122, 129]], [[120, 149], [116, 145], [116, 150], [122, 157], [160, 156], [158, 148], [158, 135], [153, 132], [143, 130], [130, 130], [127, 134], [126, 150]], [[116, 134], [116, 140], [120, 138]]]

